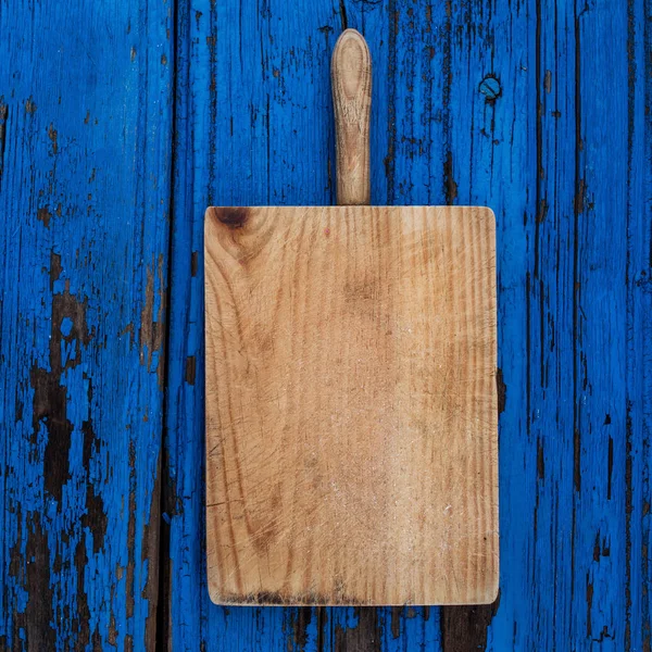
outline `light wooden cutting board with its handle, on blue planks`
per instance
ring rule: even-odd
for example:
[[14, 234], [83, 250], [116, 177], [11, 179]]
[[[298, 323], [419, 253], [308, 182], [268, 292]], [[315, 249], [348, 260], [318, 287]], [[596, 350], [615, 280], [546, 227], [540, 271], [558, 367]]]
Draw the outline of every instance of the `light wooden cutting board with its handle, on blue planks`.
[[[360, 34], [333, 66], [338, 199], [368, 203]], [[485, 208], [206, 211], [213, 601], [494, 599], [494, 230]]]

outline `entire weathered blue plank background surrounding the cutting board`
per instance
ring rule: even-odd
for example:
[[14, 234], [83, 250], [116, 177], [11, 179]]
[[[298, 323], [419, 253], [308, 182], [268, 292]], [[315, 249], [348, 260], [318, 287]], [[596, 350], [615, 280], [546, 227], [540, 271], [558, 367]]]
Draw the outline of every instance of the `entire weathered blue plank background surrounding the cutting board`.
[[[329, 57], [374, 59], [374, 203], [498, 220], [501, 590], [223, 609], [202, 218], [335, 200]], [[0, 647], [649, 651], [652, 0], [0, 0]]]

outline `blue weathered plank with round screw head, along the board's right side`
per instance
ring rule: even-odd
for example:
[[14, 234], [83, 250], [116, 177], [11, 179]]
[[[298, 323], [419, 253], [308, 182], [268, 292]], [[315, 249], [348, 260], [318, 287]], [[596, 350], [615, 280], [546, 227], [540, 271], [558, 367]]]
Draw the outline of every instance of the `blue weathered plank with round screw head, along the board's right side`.
[[[536, 167], [535, 33], [531, 3], [450, 4], [450, 50], [442, 97], [447, 128], [447, 202], [480, 202], [497, 215], [501, 580], [486, 607], [441, 613], [446, 651], [527, 649], [514, 623], [531, 613], [527, 575], [536, 484], [526, 431], [528, 231]], [[529, 469], [529, 471], [528, 471]], [[524, 481], [527, 478], [527, 481]], [[503, 618], [496, 631], [489, 625]], [[525, 632], [527, 636], [527, 631]]]

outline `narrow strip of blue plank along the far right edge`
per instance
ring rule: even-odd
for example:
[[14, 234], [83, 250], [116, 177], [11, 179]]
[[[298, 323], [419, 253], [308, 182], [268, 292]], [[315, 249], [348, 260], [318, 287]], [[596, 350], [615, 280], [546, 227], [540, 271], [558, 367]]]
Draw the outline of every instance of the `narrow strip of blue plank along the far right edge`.
[[[625, 649], [651, 640], [652, 2], [628, 4], [627, 397], [625, 417]], [[647, 58], [647, 59], [645, 59]], [[623, 453], [620, 453], [623, 454]], [[613, 536], [613, 535], [612, 535]]]

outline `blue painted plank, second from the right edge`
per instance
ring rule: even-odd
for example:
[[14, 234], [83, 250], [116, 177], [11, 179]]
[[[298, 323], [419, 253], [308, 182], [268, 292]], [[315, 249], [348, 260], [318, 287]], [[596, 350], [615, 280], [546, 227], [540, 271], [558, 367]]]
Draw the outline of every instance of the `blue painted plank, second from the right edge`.
[[[626, 648], [628, 12], [575, 13], [570, 637]], [[609, 48], [601, 43], [610, 43]], [[624, 128], [614, 128], [623, 125]]]

